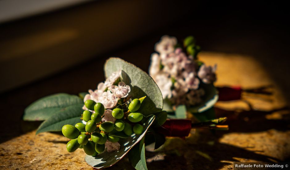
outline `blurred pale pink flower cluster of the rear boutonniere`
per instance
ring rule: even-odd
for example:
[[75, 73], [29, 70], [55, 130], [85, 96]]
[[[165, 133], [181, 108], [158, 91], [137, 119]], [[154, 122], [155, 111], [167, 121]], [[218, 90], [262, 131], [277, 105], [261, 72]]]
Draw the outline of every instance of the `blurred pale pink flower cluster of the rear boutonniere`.
[[151, 56], [149, 74], [161, 90], [163, 98], [172, 99], [174, 104], [198, 104], [204, 90], [200, 82], [210, 84], [216, 81], [215, 70], [204, 64], [199, 68], [192, 56], [187, 56], [181, 48], [175, 48], [177, 39], [162, 36], [156, 43]]

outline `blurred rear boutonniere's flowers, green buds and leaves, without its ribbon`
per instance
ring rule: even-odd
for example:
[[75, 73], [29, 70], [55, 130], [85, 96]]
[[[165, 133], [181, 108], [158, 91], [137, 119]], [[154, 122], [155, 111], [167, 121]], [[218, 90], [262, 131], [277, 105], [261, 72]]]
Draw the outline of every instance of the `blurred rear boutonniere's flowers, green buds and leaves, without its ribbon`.
[[[183, 42], [184, 51], [175, 37], [162, 36], [156, 43], [151, 55], [149, 75], [162, 92], [164, 105], [169, 113], [178, 107], [191, 113], [201, 113], [213, 106], [218, 95], [213, 83], [216, 81], [217, 66], [206, 66], [199, 61], [197, 54], [200, 46], [193, 36]], [[176, 113], [172, 117], [185, 118], [186, 112]]]

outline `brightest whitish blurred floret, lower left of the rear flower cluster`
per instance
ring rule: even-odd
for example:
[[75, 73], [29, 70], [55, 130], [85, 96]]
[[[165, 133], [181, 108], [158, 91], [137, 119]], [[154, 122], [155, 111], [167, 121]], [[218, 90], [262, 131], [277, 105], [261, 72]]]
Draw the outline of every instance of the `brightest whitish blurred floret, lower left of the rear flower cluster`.
[[155, 76], [155, 82], [160, 88], [160, 91], [162, 93], [163, 99], [166, 97], [171, 98], [171, 86], [172, 86], [172, 81], [170, 78], [168, 78], [168, 75], [166, 74], [157, 74]]

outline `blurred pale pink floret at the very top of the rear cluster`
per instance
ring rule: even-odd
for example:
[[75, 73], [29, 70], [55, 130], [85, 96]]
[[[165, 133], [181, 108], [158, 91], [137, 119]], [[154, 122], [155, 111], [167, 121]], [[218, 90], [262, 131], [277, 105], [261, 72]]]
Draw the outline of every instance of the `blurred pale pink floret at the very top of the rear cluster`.
[[177, 39], [175, 37], [170, 37], [168, 35], [162, 36], [161, 40], [155, 44], [155, 51], [160, 54], [169, 54], [174, 51], [174, 46], [177, 44]]

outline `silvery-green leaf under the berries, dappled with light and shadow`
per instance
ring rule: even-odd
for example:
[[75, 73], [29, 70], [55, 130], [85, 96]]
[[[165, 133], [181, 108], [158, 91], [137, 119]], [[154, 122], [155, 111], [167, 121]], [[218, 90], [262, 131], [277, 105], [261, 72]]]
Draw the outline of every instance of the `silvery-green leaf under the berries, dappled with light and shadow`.
[[[147, 121], [143, 124], [144, 132], [140, 135], [132, 134], [128, 138], [121, 138], [119, 140], [120, 149], [117, 152], [103, 152], [98, 154], [96, 157], [86, 155], [85, 161], [87, 164], [94, 168], [107, 168], [116, 164], [120, 159], [122, 159], [126, 153], [128, 153], [141, 139], [145, 136], [148, 128], [151, 126], [155, 119], [155, 116], [149, 116]], [[145, 153], [145, 152], [144, 152]], [[144, 158], [144, 157], [143, 157]], [[143, 159], [142, 158], [142, 159]]]

